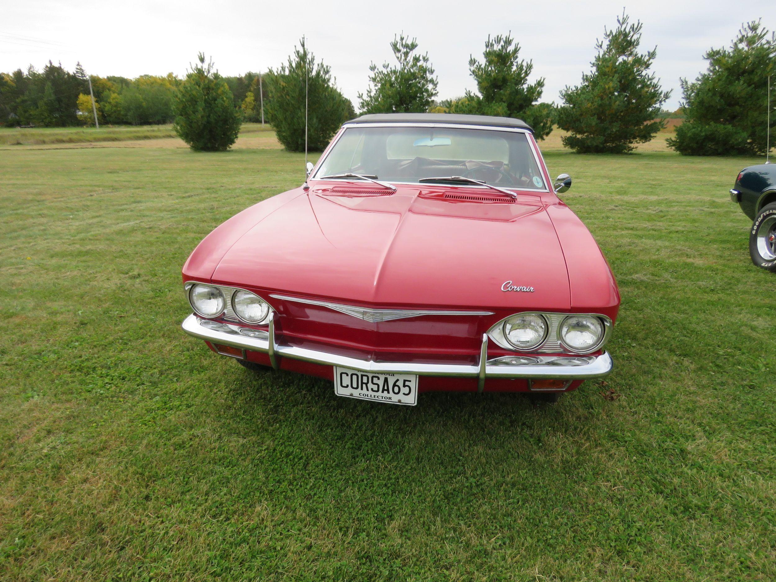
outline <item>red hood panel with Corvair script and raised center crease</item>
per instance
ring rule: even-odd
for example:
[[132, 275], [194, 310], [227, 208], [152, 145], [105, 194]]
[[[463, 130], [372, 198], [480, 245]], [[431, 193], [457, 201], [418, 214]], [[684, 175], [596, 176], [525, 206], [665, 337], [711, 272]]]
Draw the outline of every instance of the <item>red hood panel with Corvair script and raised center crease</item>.
[[[378, 307], [570, 308], [563, 251], [539, 196], [483, 203], [444, 194], [400, 186], [289, 197], [234, 242], [213, 282]], [[533, 291], [502, 291], [506, 282]]]

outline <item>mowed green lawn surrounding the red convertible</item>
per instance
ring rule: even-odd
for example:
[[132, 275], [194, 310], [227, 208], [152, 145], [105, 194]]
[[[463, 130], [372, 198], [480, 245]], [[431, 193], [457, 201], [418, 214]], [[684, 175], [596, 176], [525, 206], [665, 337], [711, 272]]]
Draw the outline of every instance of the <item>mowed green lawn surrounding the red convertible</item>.
[[303, 154], [148, 146], [0, 151], [0, 580], [776, 578], [776, 275], [727, 195], [757, 160], [549, 148], [615, 372], [391, 407], [179, 327], [189, 252]]

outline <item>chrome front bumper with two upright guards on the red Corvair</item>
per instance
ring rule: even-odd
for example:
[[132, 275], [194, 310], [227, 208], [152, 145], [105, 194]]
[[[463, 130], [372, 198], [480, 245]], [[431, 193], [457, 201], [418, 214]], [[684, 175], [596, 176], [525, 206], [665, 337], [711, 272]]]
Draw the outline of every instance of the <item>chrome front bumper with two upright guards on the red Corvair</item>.
[[[275, 322], [269, 320], [268, 331], [258, 331], [233, 324], [203, 320], [194, 314], [183, 321], [183, 331], [195, 338], [220, 345], [264, 352], [272, 367], [279, 368], [279, 359], [290, 358], [323, 365], [338, 365], [361, 372], [417, 374], [418, 376], [464, 376], [479, 379], [480, 392], [486, 378], [527, 379], [588, 379], [600, 378], [611, 372], [611, 356], [607, 352], [596, 356], [531, 356], [533, 362], [521, 365], [509, 363], [510, 357], [487, 359], [487, 334], [483, 334], [480, 362], [472, 364], [425, 364], [417, 362], [373, 362], [348, 358], [344, 355], [318, 352], [307, 348], [278, 345], [275, 342]], [[253, 334], [253, 337], [245, 335]], [[518, 357], [519, 355], [515, 355]]]

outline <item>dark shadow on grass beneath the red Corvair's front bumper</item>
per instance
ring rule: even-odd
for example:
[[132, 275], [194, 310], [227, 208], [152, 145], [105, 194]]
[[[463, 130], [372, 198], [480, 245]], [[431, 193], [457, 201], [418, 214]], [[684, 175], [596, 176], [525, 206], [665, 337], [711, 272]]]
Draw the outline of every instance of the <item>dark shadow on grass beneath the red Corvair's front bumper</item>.
[[584, 385], [556, 404], [535, 404], [524, 393], [431, 392], [419, 394], [417, 405], [409, 407], [338, 397], [331, 381], [293, 372], [236, 369], [233, 379], [229, 414], [240, 422], [257, 430], [267, 421], [296, 427], [312, 442], [322, 439], [321, 446], [361, 442], [372, 453], [393, 454], [397, 446], [414, 449], [418, 443], [436, 452], [461, 452], [535, 443], [543, 438], [537, 435], [580, 438], [581, 432], [595, 430], [591, 420], [601, 420], [600, 408], [585, 407], [590, 403]]

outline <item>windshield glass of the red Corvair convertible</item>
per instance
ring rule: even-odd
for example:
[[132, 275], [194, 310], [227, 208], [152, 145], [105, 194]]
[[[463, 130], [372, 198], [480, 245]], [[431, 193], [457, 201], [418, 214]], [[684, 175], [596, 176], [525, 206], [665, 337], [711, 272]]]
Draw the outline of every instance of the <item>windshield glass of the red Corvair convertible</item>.
[[514, 131], [348, 127], [314, 178], [339, 174], [427, 184], [424, 178], [462, 176], [501, 188], [546, 190], [528, 137]]

